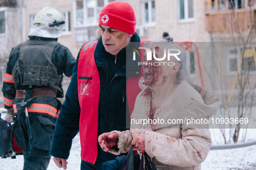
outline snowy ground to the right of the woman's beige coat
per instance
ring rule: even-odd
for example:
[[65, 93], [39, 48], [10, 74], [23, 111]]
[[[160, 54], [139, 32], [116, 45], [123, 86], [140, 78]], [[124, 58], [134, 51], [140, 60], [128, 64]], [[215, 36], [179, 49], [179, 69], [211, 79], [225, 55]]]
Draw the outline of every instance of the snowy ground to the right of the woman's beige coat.
[[[212, 145], [222, 139], [220, 129], [210, 129]], [[228, 129], [226, 129], [228, 130]], [[247, 129], [246, 142], [256, 140], [256, 129]], [[243, 131], [243, 129], [241, 129]], [[240, 136], [241, 142], [243, 135]], [[209, 151], [201, 164], [202, 170], [256, 170], [256, 145], [225, 150]]]

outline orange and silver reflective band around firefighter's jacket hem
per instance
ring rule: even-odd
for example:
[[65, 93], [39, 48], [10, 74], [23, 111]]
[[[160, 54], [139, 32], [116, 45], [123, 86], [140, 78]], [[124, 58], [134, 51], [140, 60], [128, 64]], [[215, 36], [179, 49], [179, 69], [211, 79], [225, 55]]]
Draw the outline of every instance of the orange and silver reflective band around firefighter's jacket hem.
[[[16, 104], [13, 104], [13, 110], [14, 110], [14, 113], [18, 113]], [[27, 110], [28, 112], [33, 112], [33, 113], [49, 114], [50, 116], [53, 116], [55, 118], [57, 118], [58, 114], [60, 113], [60, 110], [57, 110], [55, 107], [52, 107], [49, 104], [40, 104], [40, 103], [31, 104]]]

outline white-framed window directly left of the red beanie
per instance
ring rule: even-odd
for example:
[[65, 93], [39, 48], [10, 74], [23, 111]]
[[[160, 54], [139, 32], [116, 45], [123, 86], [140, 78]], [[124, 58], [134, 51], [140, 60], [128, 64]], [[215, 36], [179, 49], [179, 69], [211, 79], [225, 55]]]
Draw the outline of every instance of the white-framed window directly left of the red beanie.
[[95, 26], [100, 10], [114, 0], [75, 0], [75, 25]]

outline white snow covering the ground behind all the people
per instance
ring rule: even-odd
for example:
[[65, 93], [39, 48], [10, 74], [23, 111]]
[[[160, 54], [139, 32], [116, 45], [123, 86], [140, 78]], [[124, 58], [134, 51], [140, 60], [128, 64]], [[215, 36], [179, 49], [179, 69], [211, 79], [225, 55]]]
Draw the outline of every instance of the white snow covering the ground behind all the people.
[[[256, 129], [248, 129], [246, 141], [256, 140]], [[222, 139], [219, 129], [211, 129], [213, 145], [220, 144]], [[241, 135], [241, 139], [243, 139]], [[80, 138], [76, 135], [68, 158], [68, 170], [80, 170]], [[16, 159], [0, 159], [0, 170], [22, 170], [23, 155], [17, 155]], [[256, 145], [210, 151], [206, 160], [201, 164], [202, 170], [256, 170]], [[59, 170], [51, 160], [48, 170]]]

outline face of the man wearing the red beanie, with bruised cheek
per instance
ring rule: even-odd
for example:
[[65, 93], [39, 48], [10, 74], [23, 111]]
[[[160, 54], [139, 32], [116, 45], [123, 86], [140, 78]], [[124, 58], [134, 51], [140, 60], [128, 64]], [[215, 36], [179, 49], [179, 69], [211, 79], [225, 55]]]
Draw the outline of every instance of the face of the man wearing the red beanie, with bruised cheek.
[[126, 47], [133, 34], [129, 34], [106, 25], [100, 25], [102, 44], [110, 54], [117, 55], [120, 50]]

